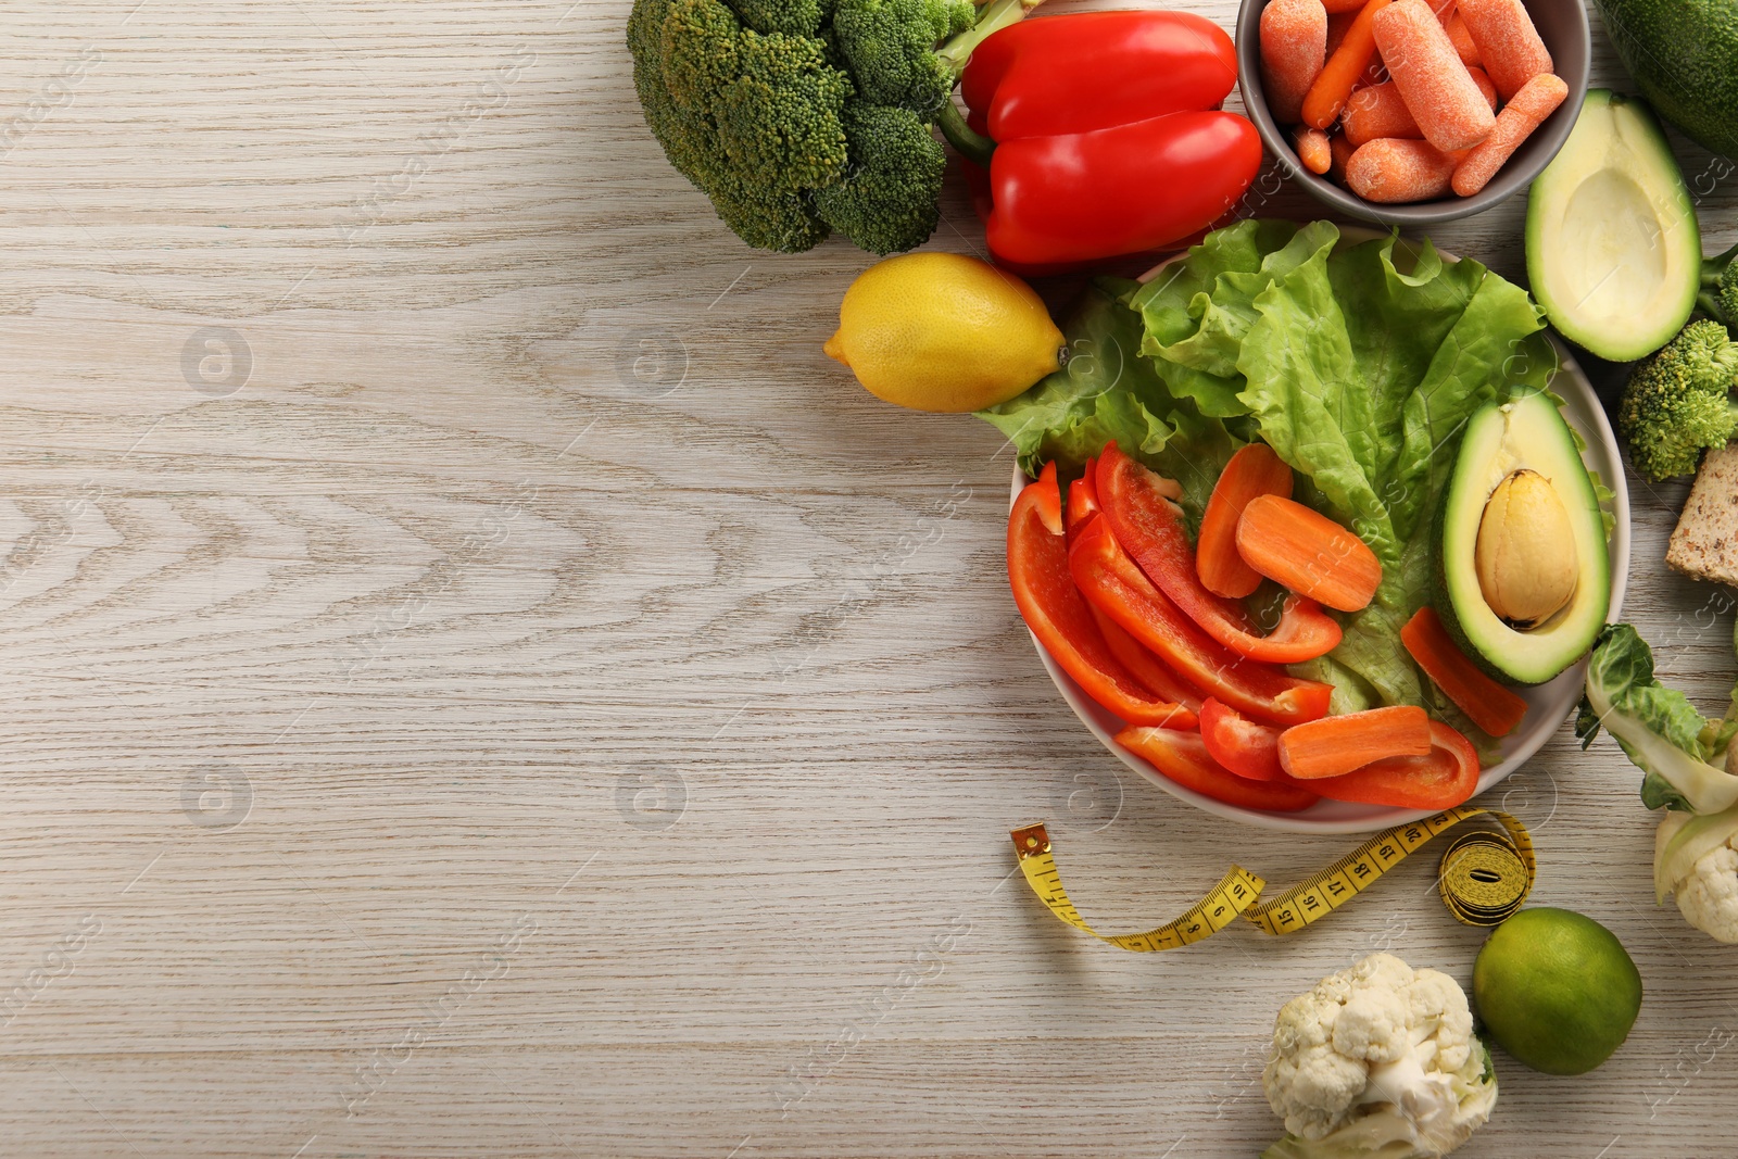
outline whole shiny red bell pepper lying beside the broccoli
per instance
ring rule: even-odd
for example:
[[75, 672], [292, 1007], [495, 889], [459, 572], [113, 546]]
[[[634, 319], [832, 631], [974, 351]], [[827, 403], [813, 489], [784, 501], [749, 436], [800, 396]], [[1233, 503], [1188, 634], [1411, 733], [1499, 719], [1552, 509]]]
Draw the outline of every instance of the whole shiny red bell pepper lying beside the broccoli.
[[1191, 12], [1078, 12], [989, 36], [966, 66], [973, 122], [940, 127], [989, 170], [991, 254], [1064, 269], [1173, 248], [1231, 212], [1262, 167], [1255, 127], [1218, 104], [1236, 49]]

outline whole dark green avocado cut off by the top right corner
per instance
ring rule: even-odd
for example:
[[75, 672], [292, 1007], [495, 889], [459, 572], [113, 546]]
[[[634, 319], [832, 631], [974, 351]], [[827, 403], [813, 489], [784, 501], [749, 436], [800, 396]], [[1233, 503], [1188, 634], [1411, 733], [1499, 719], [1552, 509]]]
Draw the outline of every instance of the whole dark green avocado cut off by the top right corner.
[[1738, 158], [1738, 3], [1597, 0], [1623, 66], [1660, 116]]

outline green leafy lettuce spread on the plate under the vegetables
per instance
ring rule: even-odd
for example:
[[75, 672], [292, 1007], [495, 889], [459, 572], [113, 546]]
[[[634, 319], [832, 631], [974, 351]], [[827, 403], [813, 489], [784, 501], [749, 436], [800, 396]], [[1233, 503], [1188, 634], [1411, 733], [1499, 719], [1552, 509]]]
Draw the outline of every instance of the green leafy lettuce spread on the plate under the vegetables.
[[1324, 221], [1243, 221], [1147, 285], [1097, 283], [1067, 334], [1069, 368], [982, 415], [1029, 471], [1078, 469], [1114, 438], [1177, 478], [1197, 520], [1225, 459], [1267, 441], [1297, 471], [1297, 499], [1383, 566], [1331, 662], [1300, 674], [1333, 683], [1338, 704], [1420, 704], [1465, 725], [1418, 679], [1399, 629], [1429, 601], [1462, 426], [1557, 370], [1524, 290], [1429, 242], [1410, 255], [1397, 236], [1349, 243]]

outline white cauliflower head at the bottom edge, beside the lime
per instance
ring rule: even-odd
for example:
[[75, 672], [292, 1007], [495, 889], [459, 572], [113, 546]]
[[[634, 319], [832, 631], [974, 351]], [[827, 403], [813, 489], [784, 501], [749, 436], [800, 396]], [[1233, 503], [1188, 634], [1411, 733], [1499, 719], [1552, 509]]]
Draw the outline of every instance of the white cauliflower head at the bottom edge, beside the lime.
[[1496, 1103], [1465, 992], [1394, 954], [1371, 954], [1286, 1003], [1262, 1086], [1286, 1121], [1264, 1159], [1437, 1159]]

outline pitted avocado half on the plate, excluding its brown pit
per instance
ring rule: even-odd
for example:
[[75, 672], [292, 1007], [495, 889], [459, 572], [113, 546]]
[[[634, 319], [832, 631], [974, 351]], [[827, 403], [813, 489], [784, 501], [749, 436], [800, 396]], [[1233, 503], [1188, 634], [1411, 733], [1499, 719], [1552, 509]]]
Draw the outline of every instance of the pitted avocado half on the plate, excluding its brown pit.
[[[1491, 492], [1522, 467], [1545, 476], [1562, 500], [1576, 558], [1569, 603], [1531, 631], [1517, 631], [1491, 612], [1474, 558]], [[1549, 549], [1540, 544], [1540, 551]], [[1609, 608], [1611, 556], [1599, 497], [1557, 403], [1529, 393], [1483, 407], [1467, 422], [1437, 511], [1437, 617], [1462, 652], [1496, 679], [1542, 685], [1582, 659]]]

